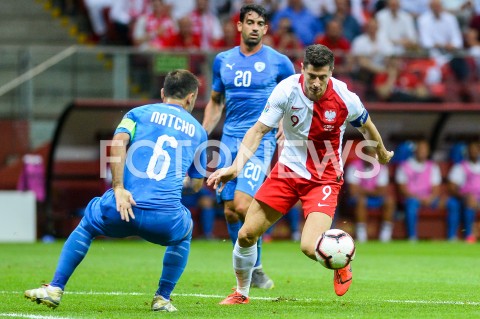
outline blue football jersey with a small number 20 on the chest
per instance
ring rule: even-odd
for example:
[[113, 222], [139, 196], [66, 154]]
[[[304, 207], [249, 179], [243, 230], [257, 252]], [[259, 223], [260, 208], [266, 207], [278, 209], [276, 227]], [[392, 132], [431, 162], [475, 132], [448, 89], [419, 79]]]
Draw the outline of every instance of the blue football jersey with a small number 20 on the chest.
[[219, 53], [213, 62], [212, 89], [225, 95], [223, 133], [242, 138], [260, 117], [274, 87], [294, 73], [290, 59], [266, 45], [250, 56], [238, 46]]

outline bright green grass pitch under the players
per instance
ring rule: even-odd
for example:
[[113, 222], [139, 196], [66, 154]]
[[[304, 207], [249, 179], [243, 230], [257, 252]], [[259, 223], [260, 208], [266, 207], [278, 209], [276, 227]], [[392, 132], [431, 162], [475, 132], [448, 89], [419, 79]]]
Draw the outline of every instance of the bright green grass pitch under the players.
[[357, 244], [350, 291], [337, 297], [332, 271], [299, 243], [264, 244], [269, 291], [249, 305], [220, 306], [235, 285], [229, 241], [193, 241], [172, 297], [176, 313], [154, 313], [164, 248], [141, 240], [96, 240], [51, 310], [23, 298], [48, 283], [63, 242], [0, 244], [0, 318], [480, 318], [480, 246], [462, 242]]

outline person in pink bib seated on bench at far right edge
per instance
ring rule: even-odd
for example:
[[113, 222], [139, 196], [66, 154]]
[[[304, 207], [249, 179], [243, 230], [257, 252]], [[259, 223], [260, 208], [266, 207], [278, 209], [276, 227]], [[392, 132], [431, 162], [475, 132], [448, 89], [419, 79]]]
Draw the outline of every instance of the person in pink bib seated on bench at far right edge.
[[460, 216], [463, 216], [463, 236], [465, 241], [476, 241], [473, 227], [475, 215], [480, 209], [480, 143], [472, 141], [468, 144], [468, 158], [455, 164], [448, 180], [453, 201], [447, 205], [448, 239], [457, 239]]

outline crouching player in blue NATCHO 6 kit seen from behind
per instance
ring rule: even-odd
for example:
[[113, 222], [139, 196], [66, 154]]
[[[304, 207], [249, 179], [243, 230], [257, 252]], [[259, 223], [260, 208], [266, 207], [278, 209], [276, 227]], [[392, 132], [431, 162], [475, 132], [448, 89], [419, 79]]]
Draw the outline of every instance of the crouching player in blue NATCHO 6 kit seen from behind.
[[187, 186], [200, 190], [206, 168], [207, 133], [190, 114], [198, 85], [189, 71], [172, 71], [161, 90], [163, 103], [124, 116], [112, 141], [112, 188], [88, 204], [63, 246], [50, 284], [25, 291], [25, 297], [56, 308], [95, 237], [139, 236], [167, 246], [152, 310], [177, 310], [170, 294], [187, 264], [193, 228], [181, 193]]

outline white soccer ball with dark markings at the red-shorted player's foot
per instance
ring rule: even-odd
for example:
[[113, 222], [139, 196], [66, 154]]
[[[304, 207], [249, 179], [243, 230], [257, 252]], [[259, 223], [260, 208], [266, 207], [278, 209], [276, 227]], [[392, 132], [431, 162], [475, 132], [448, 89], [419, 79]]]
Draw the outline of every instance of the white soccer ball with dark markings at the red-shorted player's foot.
[[355, 242], [341, 229], [327, 230], [315, 245], [315, 256], [325, 268], [343, 268], [355, 258]]

